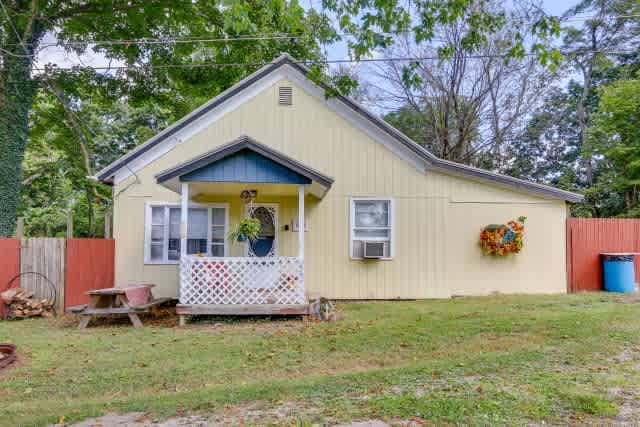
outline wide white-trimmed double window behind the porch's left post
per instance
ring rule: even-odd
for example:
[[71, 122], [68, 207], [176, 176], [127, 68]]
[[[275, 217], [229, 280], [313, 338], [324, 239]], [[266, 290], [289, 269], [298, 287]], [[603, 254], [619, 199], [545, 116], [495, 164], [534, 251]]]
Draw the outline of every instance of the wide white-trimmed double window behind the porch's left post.
[[[180, 206], [147, 206], [145, 262], [172, 264], [180, 260]], [[226, 256], [228, 210], [226, 205], [189, 208], [187, 254]]]

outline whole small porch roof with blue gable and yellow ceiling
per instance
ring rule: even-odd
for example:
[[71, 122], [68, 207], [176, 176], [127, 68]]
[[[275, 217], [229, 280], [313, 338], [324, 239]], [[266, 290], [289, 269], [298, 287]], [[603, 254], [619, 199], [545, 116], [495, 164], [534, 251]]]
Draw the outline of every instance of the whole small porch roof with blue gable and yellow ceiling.
[[188, 182], [198, 193], [215, 194], [260, 185], [262, 194], [295, 195], [299, 185], [306, 185], [320, 198], [333, 184], [332, 178], [248, 136], [163, 171], [156, 181], [178, 193]]

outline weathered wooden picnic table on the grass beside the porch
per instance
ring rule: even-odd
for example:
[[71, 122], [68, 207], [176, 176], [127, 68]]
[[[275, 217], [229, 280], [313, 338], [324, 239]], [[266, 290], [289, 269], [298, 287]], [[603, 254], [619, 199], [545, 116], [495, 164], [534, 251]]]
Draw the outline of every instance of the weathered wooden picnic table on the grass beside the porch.
[[142, 322], [138, 317], [140, 313], [147, 313], [151, 307], [169, 301], [171, 298], [156, 298], [142, 305], [131, 305], [127, 298], [126, 288], [105, 288], [95, 289], [86, 292], [89, 295], [89, 304], [70, 307], [72, 313], [81, 314], [79, 329], [84, 329], [89, 325], [93, 317], [126, 314], [135, 328], [142, 327]]

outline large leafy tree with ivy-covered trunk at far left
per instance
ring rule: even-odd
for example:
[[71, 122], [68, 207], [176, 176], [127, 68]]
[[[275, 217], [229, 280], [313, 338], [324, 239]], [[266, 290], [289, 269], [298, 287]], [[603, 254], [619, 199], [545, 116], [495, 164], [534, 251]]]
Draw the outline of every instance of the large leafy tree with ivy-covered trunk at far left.
[[[29, 113], [38, 88], [48, 91], [64, 111], [72, 131], [68, 138], [82, 143], [86, 171], [106, 159], [89, 151], [91, 131], [78, 119], [82, 97], [72, 89], [78, 73], [42, 73], [34, 70], [38, 46], [47, 33], [69, 50], [92, 49], [128, 68], [105, 73], [104, 85], [113, 99], [132, 106], [169, 106], [170, 121], [186, 114], [272, 60], [282, 51], [304, 59], [318, 59], [318, 39], [331, 39], [329, 22], [307, 14], [296, 1], [228, 2], [186, 0], [1, 0], [0, 10], [0, 236], [15, 227], [22, 163], [29, 131]], [[295, 34], [292, 38], [247, 40], [202, 45], [172, 43], [172, 38], [237, 37], [251, 34]], [[110, 40], [167, 38], [166, 43], [110, 43]], [[104, 43], [100, 41], [104, 40]], [[166, 64], [250, 64], [236, 67], [163, 68]], [[77, 71], [77, 70], [76, 70]], [[82, 73], [79, 73], [82, 74]], [[108, 78], [106, 78], [108, 77]], [[100, 80], [100, 79], [94, 79]], [[119, 150], [114, 150], [119, 151]], [[67, 153], [73, 156], [72, 153]], [[87, 161], [88, 160], [88, 161]], [[95, 186], [81, 183], [80, 186]], [[92, 190], [95, 195], [97, 191]]]

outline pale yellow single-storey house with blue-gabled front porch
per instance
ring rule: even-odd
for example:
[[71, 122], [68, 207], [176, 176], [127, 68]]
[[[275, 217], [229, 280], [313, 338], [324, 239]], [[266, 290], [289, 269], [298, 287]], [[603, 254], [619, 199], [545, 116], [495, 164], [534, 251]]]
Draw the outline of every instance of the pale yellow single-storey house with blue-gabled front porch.
[[[119, 285], [153, 283], [183, 314], [565, 292], [582, 196], [436, 158], [307, 73], [283, 55], [97, 174]], [[521, 215], [524, 249], [484, 255], [481, 228]], [[231, 241], [248, 217], [258, 238]]]

